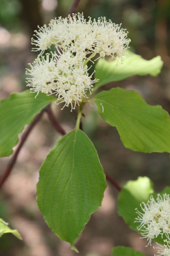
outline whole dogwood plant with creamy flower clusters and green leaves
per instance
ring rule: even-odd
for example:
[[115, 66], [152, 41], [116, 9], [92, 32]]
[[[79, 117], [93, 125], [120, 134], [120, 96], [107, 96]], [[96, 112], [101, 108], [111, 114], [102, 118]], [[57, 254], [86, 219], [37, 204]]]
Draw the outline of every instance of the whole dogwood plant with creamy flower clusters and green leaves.
[[[78, 13], [51, 20], [48, 26], [39, 28], [32, 38], [33, 51], [39, 55], [26, 71], [30, 90], [13, 93], [8, 99], [1, 101], [1, 156], [12, 154], [12, 148], [18, 143], [18, 134], [23, 131], [24, 126], [31, 123], [25, 138], [45, 111], [57, 131], [64, 135], [40, 168], [37, 205], [48, 226], [61, 240], [69, 242], [75, 251], [77, 249], [74, 243], [91, 213], [101, 206], [107, 187], [95, 147], [80, 129], [84, 105], [95, 102], [104, 121], [117, 127], [126, 148], [146, 153], [170, 152], [170, 119], [161, 106], [146, 104], [141, 95], [133, 90], [112, 88], [97, 93], [97, 89], [111, 81], [133, 75], [159, 74], [163, 65], [160, 57], [144, 60], [128, 50], [129, 43], [128, 32], [106, 18], [86, 20], [83, 14]], [[92, 65], [95, 65], [94, 72], [91, 71]], [[63, 109], [67, 106], [71, 112], [77, 112], [75, 129], [70, 133], [65, 134], [54, 120], [50, 109], [53, 102], [56, 108]], [[23, 141], [19, 144], [19, 150], [22, 143]], [[8, 170], [0, 180], [0, 187], [9, 172]], [[131, 182], [131, 186], [128, 183], [122, 189], [116, 185], [119, 191], [121, 189], [118, 213], [132, 229], [137, 230], [134, 209], [139, 207], [142, 200], [146, 202], [154, 192], [147, 177]], [[144, 183], [145, 186], [142, 187]], [[169, 195], [168, 192], [165, 193]], [[147, 206], [144, 204], [145, 213], [156, 205], [155, 209], [163, 214], [163, 208], [160, 210], [158, 204], [169, 204], [169, 196], [165, 193], [163, 199], [158, 196], [158, 203], [151, 197], [150, 203]], [[130, 211], [127, 211], [129, 208]], [[148, 243], [159, 235], [163, 241], [163, 234], [169, 239], [169, 222], [166, 222], [167, 226], [164, 228], [166, 220], [161, 214], [158, 220], [158, 215], [154, 217], [150, 212], [147, 213], [145, 216], [138, 211], [136, 221], [141, 222], [138, 231], [146, 229], [142, 232], [148, 237]], [[167, 214], [169, 217], [169, 213]], [[155, 226], [150, 223], [155, 223], [158, 229], [152, 237]], [[158, 242], [162, 243], [161, 241]]]

